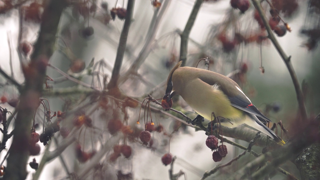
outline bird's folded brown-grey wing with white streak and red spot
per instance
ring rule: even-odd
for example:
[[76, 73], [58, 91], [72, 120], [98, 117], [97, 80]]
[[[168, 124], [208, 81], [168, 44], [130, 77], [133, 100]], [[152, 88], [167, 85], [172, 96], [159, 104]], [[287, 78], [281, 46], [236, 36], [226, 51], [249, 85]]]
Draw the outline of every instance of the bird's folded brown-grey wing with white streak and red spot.
[[[199, 78], [205, 83], [213, 86], [219, 85], [219, 88], [226, 94], [230, 100], [232, 106], [254, 114], [257, 118], [263, 123], [268, 123], [270, 119], [264, 116], [250, 101], [250, 99], [242, 92], [238, 84], [232, 79], [223, 76], [221, 74], [199, 70]], [[211, 73], [214, 76], [208, 76], [207, 74]]]

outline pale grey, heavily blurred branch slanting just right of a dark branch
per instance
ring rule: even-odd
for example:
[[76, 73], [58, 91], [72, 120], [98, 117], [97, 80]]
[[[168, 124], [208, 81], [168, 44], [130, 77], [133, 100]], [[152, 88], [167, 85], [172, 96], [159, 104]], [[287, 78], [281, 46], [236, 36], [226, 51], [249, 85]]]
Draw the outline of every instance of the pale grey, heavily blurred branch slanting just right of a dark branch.
[[156, 19], [151, 20], [151, 24], [153, 23], [153, 21], [155, 22], [152, 28], [150, 24], [150, 28], [149, 28], [149, 30], [151, 31], [150, 35], [148, 35], [149, 33], [147, 34], [146, 42], [143, 45], [143, 48], [140, 51], [137, 59], [132, 63], [130, 69], [120, 78], [119, 83], [123, 83], [126, 79], [128, 79], [130, 74], [137, 74], [141, 64], [147, 59], [149, 53], [152, 50], [152, 47], [153, 47], [152, 44], [154, 43], [154, 40], [156, 38], [156, 34], [159, 29], [160, 22], [163, 19], [164, 13], [169, 7], [170, 3], [171, 3], [171, 0], [165, 0], [164, 3], [161, 5], [160, 12], [158, 16], [156, 16]]

